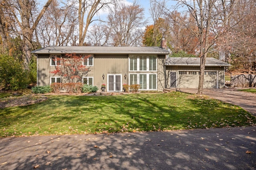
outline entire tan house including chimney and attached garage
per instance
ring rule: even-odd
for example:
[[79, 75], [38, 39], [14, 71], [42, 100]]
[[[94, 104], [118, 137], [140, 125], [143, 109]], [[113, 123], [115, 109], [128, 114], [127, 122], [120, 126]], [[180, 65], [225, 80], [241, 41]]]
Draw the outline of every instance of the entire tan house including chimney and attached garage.
[[[123, 84], [139, 84], [140, 90], [163, 91], [164, 88], [198, 86], [200, 58], [169, 58], [166, 40], [160, 47], [91, 47], [91, 46], [49, 46], [32, 51], [37, 55], [37, 85], [60, 82], [60, 77], [50, 73], [58, 62], [54, 57], [66, 53], [90, 55], [83, 64], [90, 72], [83, 83], [106, 84], [106, 91], [120, 92]], [[199, 60], [198, 60], [199, 59]], [[205, 88], [224, 87], [224, 67], [217, 59], [206, 61]], [[182, 75], [182, 76], [181, 76]]]

